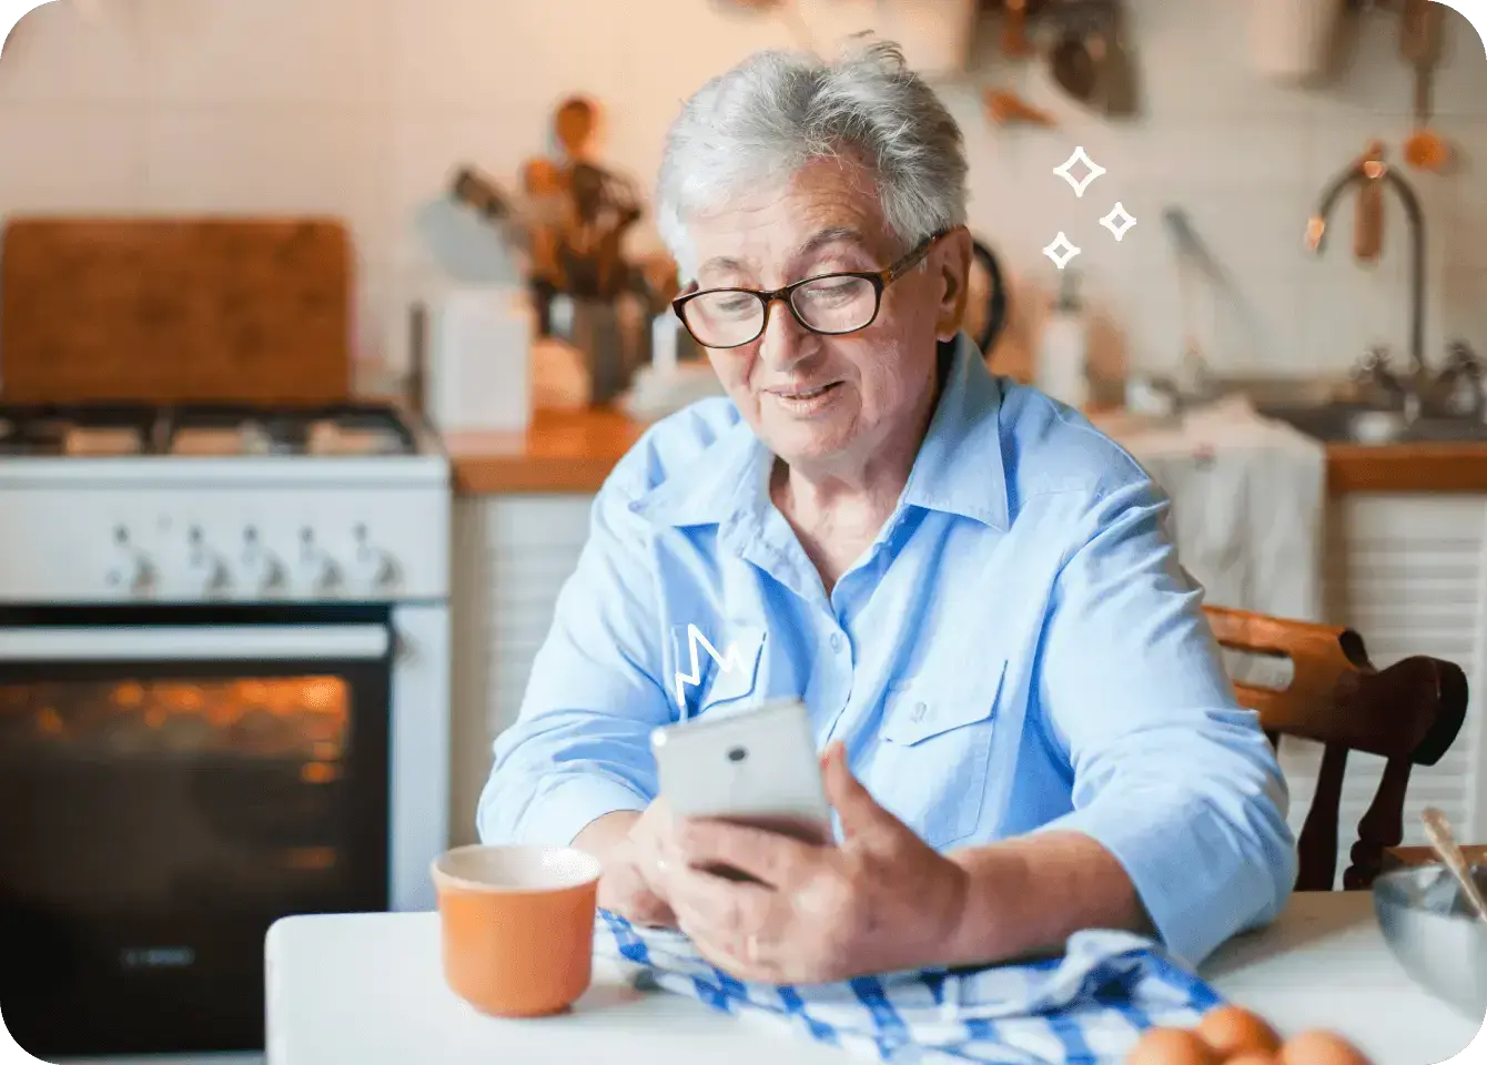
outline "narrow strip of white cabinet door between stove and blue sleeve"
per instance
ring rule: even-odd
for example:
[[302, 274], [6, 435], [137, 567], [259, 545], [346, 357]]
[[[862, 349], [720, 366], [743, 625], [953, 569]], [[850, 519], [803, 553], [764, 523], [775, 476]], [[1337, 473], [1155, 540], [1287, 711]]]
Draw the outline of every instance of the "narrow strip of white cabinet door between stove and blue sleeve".
[[476, 842], [491, 744], [516, 720], [537, 649], [589, 535], [592, 495], [482, 495], [454, 513], [451, 839]]

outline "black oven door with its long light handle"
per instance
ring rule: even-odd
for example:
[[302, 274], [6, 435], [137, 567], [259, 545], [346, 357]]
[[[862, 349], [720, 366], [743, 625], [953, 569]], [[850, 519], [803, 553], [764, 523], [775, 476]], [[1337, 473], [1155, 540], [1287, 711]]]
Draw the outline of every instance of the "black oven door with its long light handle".
[[388, 907], [385, 607], [0, 611], [0, 1010], [55, 1055], [263, 1046], [263, 936]]

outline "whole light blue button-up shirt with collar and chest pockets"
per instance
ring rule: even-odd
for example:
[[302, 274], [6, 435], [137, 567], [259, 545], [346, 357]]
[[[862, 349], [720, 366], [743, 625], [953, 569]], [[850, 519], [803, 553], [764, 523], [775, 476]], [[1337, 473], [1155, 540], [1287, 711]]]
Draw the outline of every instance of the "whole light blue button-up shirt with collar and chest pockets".
[[937, 849], [1077, 830], [1193, 964], [1274, 918], [1288, 793], [1178, 564], [1169, 501], [1081, 415], [959, 338], [892, 518], [827, 595], [767, 495], [772, 455], [709, 399], [599, 491], [577, 571], [495, 742], [486, 842], [565, 845], [656, 796], [651, 730], [764, 698], [810, 708]]

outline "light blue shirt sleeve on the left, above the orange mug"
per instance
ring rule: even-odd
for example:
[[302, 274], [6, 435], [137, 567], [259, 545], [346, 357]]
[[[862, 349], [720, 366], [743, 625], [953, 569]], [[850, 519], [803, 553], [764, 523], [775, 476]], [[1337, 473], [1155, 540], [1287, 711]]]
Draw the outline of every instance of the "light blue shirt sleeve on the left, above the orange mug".
[[656, 680], [650, 527], [630, 510], [628, 466], [595, 498], [517, 720], [495, 741], [476, 817], [486, 843], [567, 846], [596, 818], [642, 811], [656, 794], [650, 733], [671, 705]]

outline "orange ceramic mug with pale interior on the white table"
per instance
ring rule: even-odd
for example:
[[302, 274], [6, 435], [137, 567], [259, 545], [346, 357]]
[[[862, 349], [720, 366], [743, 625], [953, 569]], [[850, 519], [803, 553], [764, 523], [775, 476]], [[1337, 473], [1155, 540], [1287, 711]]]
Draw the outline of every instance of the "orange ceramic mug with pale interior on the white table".
[[434, 861], [445, 980], [497, 1017], [559, 1013], [593, 979], [598, 858], [561, 846], [457, 846]]

